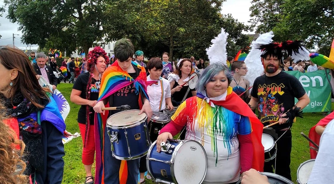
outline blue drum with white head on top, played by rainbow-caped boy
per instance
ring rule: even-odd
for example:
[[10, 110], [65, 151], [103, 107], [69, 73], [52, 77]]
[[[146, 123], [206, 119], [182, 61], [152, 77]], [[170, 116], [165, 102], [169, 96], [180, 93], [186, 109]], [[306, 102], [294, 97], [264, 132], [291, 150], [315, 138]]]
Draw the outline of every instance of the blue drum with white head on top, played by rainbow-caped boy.
[[133, 160], [145, 156], [151, 145], [145, 113], [128, 110], [107, 119], [107, 133], [111, 151], [119, 160]]

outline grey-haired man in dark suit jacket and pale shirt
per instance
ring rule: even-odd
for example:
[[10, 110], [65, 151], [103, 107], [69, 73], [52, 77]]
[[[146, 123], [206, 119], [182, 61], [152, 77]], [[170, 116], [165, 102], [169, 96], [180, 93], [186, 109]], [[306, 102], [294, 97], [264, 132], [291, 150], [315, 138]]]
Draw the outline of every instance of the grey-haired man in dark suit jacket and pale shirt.
[[52, 85], [52, 90], [57, 87], [57, 78], [53, 74], [53, 70], [50, 66], [46, 64], [46, 55], [44, 53], [38, 53], [36, 55], [36, 64], [34, 64], [34, 69], [36, 71], [36, 77], [39, 79], [41, 76]]

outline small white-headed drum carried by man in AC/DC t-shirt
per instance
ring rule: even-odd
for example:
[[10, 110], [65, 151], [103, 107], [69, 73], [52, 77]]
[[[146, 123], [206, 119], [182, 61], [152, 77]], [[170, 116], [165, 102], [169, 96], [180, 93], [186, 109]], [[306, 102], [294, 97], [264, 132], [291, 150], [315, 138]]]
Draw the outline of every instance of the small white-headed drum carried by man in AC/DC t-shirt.
[[268, 134], [262, 134], [261, 143], [265, 147], [265, 162], [273, 160], [276, 157], [276, 142]]

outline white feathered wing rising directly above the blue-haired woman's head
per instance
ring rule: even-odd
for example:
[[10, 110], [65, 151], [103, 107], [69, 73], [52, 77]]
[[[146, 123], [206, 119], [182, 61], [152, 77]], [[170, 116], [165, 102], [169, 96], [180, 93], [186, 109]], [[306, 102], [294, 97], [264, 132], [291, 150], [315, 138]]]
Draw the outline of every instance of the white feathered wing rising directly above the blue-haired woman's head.
[[221, 62], [226, 65], [227, 36], [228, 33], [225, 32], [224, 28], [221, 28], [221, 33], [219, 33], [217, 37], [212, 39], [212, 44], [210, 45], [210, 47], [205, 49], [210, 63]]

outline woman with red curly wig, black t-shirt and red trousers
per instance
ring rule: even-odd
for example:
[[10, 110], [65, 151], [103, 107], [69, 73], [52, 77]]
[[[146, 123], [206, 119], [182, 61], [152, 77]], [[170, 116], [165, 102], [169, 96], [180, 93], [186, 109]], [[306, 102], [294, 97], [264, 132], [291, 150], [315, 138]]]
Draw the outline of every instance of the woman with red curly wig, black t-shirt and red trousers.
[[109, 57], [101, 47], [95, 47], [88, 54], [87, 69], [75, 80], [71, 92], [71, 102], [81, 105], [78, 112], [78, 124], [81, 132], [83, 149], [82, 163], [86, 170], [85, 184], [93, 184], [92, 164], [94, 163], [94, 110], [96, 105], [102, 73], [106, 69]]

